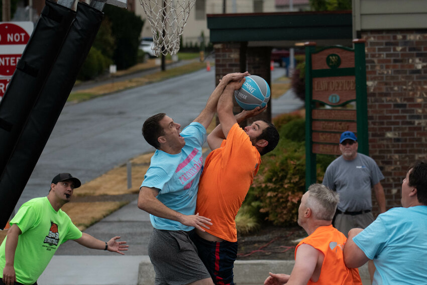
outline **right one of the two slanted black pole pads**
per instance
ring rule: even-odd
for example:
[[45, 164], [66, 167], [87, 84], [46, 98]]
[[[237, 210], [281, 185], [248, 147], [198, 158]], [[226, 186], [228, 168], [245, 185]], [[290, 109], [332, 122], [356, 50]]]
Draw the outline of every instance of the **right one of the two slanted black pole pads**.
[[[49, 139], [77, 74], [89, 53], [102, 18], [101, 11], [85, 3], [77, 4], [75, 21], [0, 178], [0, 209], [2, 209], [0, 228], [2, 229], [6, 226]], [[52, 175], [55, 174], [52, 173]], [[49, 189], [49, 182], [46, 181], [46, 192]]]

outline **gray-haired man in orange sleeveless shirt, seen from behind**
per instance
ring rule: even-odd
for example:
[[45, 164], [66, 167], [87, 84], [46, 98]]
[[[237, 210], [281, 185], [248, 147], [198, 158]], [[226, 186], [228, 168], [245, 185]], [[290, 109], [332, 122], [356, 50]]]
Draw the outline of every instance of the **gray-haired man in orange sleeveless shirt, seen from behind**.
[[290, 275], [274, 274], [264, 285], [362, 285], [357, 268], [344, 263], [347, 238], [332, 226], [339, 195], [322, 184], [313, 184], [302, 196], [298, 225], [307, 232], [295, 249], [295, 265]]

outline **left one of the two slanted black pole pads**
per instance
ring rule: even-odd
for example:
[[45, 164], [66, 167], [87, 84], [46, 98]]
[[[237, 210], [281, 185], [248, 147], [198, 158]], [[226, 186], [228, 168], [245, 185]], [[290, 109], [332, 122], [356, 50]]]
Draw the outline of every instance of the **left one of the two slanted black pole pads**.
[[73, 10], [46, 1], [0, 102], [0, 174], [13, 153], [74, 18]]

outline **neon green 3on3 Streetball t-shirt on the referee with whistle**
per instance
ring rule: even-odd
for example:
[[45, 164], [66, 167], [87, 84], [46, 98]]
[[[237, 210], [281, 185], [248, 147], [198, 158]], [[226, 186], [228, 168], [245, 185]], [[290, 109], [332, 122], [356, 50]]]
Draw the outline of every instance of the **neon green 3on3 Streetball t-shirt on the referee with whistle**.
[[[11, 221], [22, 234], [18, 238], [14, 268], [17, 281], [33, 284], [52, 259], [58, 246], [81, 237], [81, 231], [61, 209], [56, 212], [47, 197], [23, 204]], [[5, 268], [6, 240], [0, 246], [0, 277]]]

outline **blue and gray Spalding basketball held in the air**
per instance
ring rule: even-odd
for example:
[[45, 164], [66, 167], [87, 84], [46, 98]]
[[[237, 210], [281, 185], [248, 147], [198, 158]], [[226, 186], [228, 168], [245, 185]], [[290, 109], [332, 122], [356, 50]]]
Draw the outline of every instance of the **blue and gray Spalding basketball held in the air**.
[[270, 100], [270, 86], [267, 81], [257, 75], [249, 75], [242, 88], [234, 91], [237, 104], [245, 110], [253, 110], [258, 106], [264, 108]]

